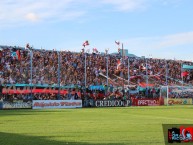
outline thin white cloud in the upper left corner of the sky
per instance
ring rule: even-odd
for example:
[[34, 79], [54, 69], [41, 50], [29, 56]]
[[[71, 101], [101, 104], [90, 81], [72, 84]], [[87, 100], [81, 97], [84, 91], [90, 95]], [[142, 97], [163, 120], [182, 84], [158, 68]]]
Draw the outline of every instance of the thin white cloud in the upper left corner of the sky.
[[81, 17], [84, 10], [76, 0], [1, 0], [0, 26], [20, 25], [39, 21], [69, 20]]

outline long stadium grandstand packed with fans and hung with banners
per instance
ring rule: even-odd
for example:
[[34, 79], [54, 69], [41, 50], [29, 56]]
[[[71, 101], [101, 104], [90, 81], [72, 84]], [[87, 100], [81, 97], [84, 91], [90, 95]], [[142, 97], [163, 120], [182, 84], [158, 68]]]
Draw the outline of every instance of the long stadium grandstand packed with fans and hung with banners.
[[[130, 97], [135, 91], [138, 97], [153, 98], [159, 97], [160, 86], [193, 84], [192, 62], [100, 53], [94, 49], [92, 53], [84, 49], [75, 53], [34, 49], [29, 44], [25, 48], [0, 46], [0, 62], [1, 99], [7, 100], [85, 99], [85, 95], [96, 100]], [[36, 89], [18, 93], [7, 91], [10, 86]], [[115, 89], [118, 87], [122, 90]]]

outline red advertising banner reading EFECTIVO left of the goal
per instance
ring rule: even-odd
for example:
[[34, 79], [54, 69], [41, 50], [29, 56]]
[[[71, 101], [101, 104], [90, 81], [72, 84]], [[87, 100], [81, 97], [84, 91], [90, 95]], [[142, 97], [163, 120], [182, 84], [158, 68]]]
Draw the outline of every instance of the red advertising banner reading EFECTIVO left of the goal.
[[159, 99], [133, 99], [132, 105], [133, 106], [159, 106], [160, 100]]

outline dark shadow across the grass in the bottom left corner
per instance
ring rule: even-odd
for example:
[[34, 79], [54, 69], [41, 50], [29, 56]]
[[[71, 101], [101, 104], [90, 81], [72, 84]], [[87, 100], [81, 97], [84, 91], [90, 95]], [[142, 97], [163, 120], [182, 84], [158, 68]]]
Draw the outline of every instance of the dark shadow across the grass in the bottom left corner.
[[[87, 142], [67, 142], [53, 140], [49, 137], [28, 136], [23, 134], [0, 132], [0, 145], [91, 145]], [[93, 143], [97, 144], [97, 143]], [[119, 145], [119, 143], [98, 143], [102, 145]]]

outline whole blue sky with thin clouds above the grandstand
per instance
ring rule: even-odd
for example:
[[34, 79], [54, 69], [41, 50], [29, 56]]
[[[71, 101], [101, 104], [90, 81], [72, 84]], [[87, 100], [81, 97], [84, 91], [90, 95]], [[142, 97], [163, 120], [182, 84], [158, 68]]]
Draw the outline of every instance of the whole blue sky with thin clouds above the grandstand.
[[1, 0], [0, 45], [193, 61], [192, 0]]

